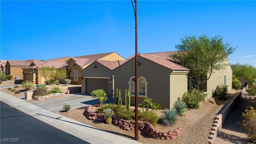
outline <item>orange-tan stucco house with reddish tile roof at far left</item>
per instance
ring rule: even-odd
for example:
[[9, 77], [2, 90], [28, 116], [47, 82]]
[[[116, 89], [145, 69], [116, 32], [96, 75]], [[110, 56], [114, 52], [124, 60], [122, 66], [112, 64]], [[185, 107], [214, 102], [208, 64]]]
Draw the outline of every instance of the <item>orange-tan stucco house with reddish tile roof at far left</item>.
[[25, 60], [7, 60], [5, 74], [10, 74], [12, 79], [23, 79], [22, 68], [29, 66], [30, 62]]

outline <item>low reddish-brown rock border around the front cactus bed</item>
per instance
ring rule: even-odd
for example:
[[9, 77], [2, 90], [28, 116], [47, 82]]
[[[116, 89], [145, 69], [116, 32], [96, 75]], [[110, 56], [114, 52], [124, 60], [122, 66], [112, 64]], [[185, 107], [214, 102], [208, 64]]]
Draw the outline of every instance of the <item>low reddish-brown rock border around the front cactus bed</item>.
[[[86, 115], [86, 118], [88, 118], [89, 120], [97, 120], [97, 121], [104, 120], [103, 114], [98, 114], [91, 111], [91, 105], [86, 107], [85, 115]], [[135, 127], [134, 120], [124, 120], [116, 115], [112, 117], [112, 123], [115, 126], [122, 128], [123, 130], [134, 130], [134, 127]], [[176, 130], [169, 130], [166, 132], [162, 132], [154, 128], [154, 126], [149, 122], [144, 122], [144, 121], [138, 122], [138, 128], [140, 131], [146, 132], [148, 136], [151, 136], [152, 138], [156, 138], [156, 139], [161, 139], [161, 140], [174, 140], [182, 130], [182, 128], [177, 128]]]

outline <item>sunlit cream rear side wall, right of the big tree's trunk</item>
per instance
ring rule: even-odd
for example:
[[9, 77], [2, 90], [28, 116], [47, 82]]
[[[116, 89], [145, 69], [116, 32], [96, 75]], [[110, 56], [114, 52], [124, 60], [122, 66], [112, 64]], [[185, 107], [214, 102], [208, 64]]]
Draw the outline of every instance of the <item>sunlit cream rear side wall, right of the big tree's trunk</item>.
[[[228, 64], [228, 61], [225, 61], [225, 63]], [[219, 84], [224, 84], [224, 75], [226, 75], [226, 85], [228, 85], [228, 90], [232, 89], [232, 69], [230, 65], [226, 66], [225, 70], [219, 70], [214, 72], [215, 73], [212, 74], [210, 79], [207, 81], [207, 98], [212, 97], [212, 92], [216, 90], [216, 87]]]

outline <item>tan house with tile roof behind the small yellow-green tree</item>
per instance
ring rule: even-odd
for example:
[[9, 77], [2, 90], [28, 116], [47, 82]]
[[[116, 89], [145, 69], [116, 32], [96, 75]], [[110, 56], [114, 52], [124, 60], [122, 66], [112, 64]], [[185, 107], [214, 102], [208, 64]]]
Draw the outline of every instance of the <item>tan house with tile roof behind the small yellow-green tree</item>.
[[27, 67], [22, 68], [24, 80], [32, 81], [34, 84], [44, 84], [45, 78], [38, 73], [42, 67], [54, 66], [56, 69], [65, 69], [67, 67], [66, 62], [55, 61], [38, 61], [31, 62]]

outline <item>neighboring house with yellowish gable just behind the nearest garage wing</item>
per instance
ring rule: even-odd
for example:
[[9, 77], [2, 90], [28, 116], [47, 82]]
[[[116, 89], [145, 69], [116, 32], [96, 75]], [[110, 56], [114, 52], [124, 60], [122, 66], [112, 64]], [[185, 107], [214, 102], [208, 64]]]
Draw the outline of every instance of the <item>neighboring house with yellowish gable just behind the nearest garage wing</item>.
[[71, 81], [71, 84], [82, 84], [81, 79], [81, 70], [86, 68], [95, 60], [124, 60], [122, 56], [116, 52], [108, 52], [102, 54], [91, 54], [86, 56], [76, 56], [70, 58], [66, 63], [68, 64], [68, 78]]

